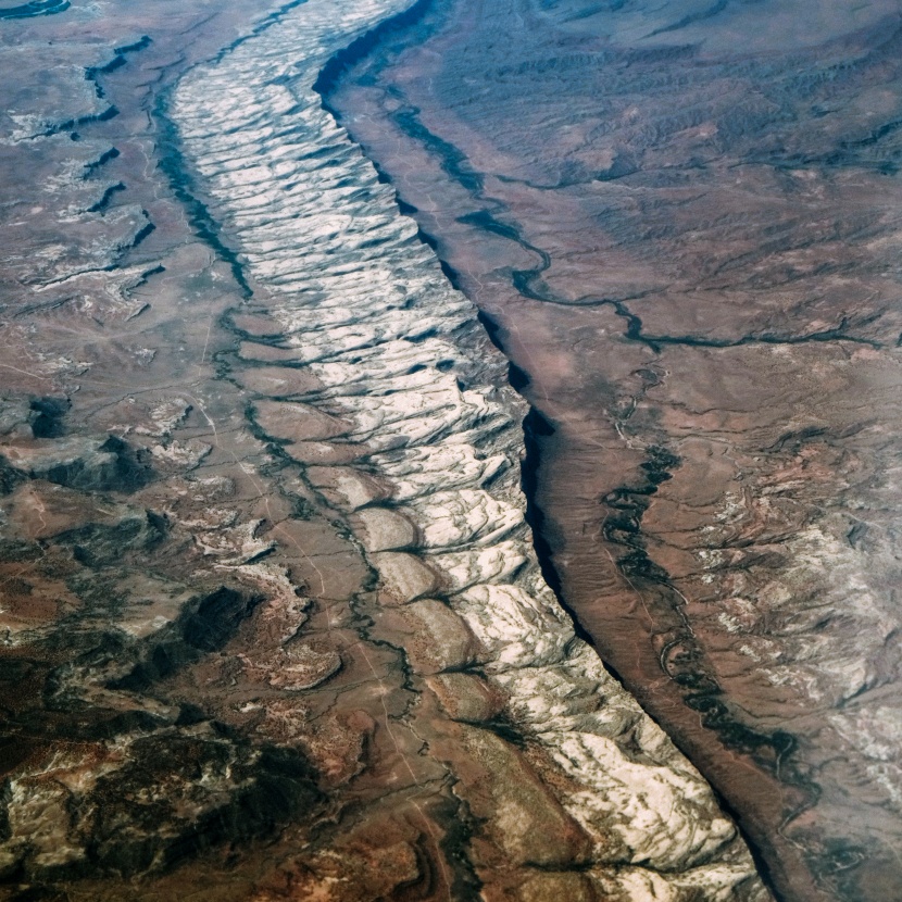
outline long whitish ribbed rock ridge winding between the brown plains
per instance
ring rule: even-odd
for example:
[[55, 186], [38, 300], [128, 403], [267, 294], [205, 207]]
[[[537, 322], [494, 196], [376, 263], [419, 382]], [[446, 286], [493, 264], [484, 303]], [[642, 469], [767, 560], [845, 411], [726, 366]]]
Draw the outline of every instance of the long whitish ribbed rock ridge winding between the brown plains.
[[312, 89], [331, 54], [409, 2], [310, 0], [173, 96], [211, 213], [318, 385], [261, 404], [259, 423], [299, 462], [328, 465], [386, 606], [433, 642], [463, 637], [412, 663], [439, 679], [449, 714], [467, 690], [441, 680], [469, 666], [506, 696], [510, 719], [560, 772], [544, 782], [588, 836], [599, 890], [764, 899], [705, 782], [543, 581], [519, 489], [523, 403], [480, 381], [501, 368], [481, 359], [497, 356], [487, 341], [474, 352], [458, 340], [476, 328], [474, 308]]

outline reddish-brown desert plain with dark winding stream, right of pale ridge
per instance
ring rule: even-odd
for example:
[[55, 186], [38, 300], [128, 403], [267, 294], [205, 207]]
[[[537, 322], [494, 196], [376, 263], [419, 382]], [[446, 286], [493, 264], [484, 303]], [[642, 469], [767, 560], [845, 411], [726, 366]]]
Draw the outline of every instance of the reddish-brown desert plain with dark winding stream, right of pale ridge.
[[549, 580], [793, 902], [902, 886], [900, 25], [436, 0], [328, 97], [513, 361]]

